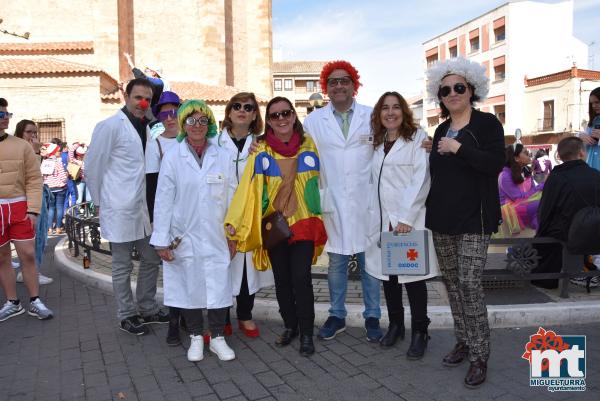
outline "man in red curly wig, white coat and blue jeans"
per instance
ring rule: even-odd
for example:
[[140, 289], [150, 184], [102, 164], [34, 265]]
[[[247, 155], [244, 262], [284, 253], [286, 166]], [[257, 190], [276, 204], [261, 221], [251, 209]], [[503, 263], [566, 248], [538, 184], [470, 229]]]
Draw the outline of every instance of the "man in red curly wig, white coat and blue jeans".
[[346, 329], [346, 288], [348, 261], [356, 255], [360, 268], [365, 310], [366, 337], [377, 342], [379, 327], [379, 280], [365, 271], [367, 197], [373, 136], [372, 108], [356, 103], [361, 85], [356, 68], [347, 61], [323, 66], [321, 88], [329, 96], [327, 106], [313, 111], [304, 120], [321, 160], [321, 209], [327, 231], [325, 250], [329, 255], [328, 284], [331, 297], [329, 318], [318, 337], [330, 340]]

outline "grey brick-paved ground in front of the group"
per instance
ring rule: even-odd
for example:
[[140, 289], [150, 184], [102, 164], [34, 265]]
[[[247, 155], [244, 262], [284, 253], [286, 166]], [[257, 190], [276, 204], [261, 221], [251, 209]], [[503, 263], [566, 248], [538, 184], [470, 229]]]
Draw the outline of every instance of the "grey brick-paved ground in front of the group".
[[[302, 358], [297, 342], [273, 346], [278, 320], [259, 320], [260, 338], [237, 330], [229, 338], [236, 360], [220, 362], [207, 352], [203, 361], [190, 363], [185, 345], [166, 346], [165, 326], [154, 325], [143, 337], [120, 331], [112, 295], [61, 273], [51, 248], [43, 270], [55, 282], [41, 287], [41, 295], [56, 317], [38, 321], [21, 315], [0, 323], [0, 401], [600, 399], [600, 324], [546, 327], [587, 335], [585, 393], [529, 387], [521, 354], [537, 326], [492, 330], [488, 381], [477, 390], [462, 385], [466, 365], [440, 364], [454, 343], [451, 330], [431, 330], [421, 361], [405, 358], [408, 338], [382, 350], [365, 341], [361, 328], [317, 342], [316, 354]], [[23, 285], [18, 289], [26, 300]]]

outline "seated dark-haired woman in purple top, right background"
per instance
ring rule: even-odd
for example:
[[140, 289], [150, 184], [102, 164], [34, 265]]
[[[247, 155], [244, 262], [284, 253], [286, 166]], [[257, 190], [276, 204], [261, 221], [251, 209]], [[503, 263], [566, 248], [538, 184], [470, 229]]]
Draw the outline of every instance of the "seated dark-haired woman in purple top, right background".
[[533, 176], [525, 177], [523, 168], [531, 163], [525, 147], [516, 143], [506, 147], [506, 162], [498, 176], [500, 204], [502, 205], [501, 233], [510, 237], [526, 228], [537, 229], [537, 209], [544, 183], [535, 184]]

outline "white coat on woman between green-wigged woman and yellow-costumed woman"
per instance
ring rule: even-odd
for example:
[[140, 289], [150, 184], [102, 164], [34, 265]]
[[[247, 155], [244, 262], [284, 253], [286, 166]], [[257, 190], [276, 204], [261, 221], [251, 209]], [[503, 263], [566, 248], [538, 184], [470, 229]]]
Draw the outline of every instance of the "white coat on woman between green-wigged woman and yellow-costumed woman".
[[[227, 128], [223, 129], [223, 132], [221, 132], [219, 135], [210, 139], [211, 144], [216, 144], [220, 148], [229, 152], [235, 166], [234, 171], [236, 175], [234, 179], [236, 187], [242, 178], [242, 174], [244, 174], [244, 168], [246, 167], [246, 161], [248, 160], [248, 151], [250, 149], [252, 139], [252, 135], [248, 135], [246, 137], [244, 148], [239, 154], [237, 146], [235, 146], [235, 143], [233, 143], [233, 140], [227, 132]], [[261, 288], [275, 285], [273, 271], [271, 269], [258, 271], [254, 268], [254, 263], [252, 263], [252, 252], [238, 252], [231, 260], [231, 264], [229, 266], [234, 296], [240, 294], [242, 276], [244, 274], [244, 259], [246, 260], [246, 279], [248, 280], [248, 292], [250, 295], [256, 294]]]

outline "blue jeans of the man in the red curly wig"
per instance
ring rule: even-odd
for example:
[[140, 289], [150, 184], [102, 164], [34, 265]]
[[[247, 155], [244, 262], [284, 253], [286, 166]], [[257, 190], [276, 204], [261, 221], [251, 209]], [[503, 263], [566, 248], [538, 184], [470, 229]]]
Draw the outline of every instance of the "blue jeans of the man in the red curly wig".
[[[346, 290], [348, 288], [348, 262], [350, 255], [340, 255], [337, 253], [328, 252], [329, 255], [329, 271], [327, 281], [329, 283], [329, 297], [331, 298], [331, 308], [329, 315], [340, 319], [345, 319], [346, 311]], [[375, 277], [365, 271], [365, 253], [357, 253], [358, 267], [360, 269], [360, 281], [363, 290], [363, 302], [365, 311], [363, 317], [365, 319], [374, 317], [381, 318], [380, 308], [380, 282]]]

